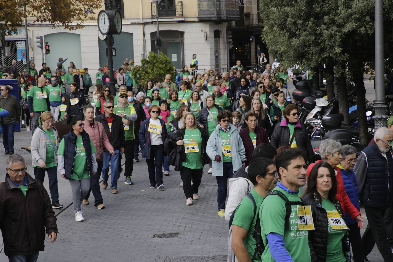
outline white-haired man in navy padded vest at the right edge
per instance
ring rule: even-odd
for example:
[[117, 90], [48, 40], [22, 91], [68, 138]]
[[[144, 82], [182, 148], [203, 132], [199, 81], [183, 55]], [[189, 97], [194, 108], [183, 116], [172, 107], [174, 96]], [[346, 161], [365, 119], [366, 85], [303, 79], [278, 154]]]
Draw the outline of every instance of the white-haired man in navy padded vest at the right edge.
[[[371, 231], [385, 261], [393, 261], [388, 239], [391, 232], [387, 232], [384, 219], [387, 210], [393, 205], [393, 154], [390, 149], [392, 140], [393, 134], [389, 128], [378, 128], [373, 143], [364, 148], [353, 169], [358, 179], [360, 201], [369, 222], [364, 234], [369, 235]], [[362, 238], [362, 242], [364, 255], [368, 255], [371, 252], [370, 239]]]

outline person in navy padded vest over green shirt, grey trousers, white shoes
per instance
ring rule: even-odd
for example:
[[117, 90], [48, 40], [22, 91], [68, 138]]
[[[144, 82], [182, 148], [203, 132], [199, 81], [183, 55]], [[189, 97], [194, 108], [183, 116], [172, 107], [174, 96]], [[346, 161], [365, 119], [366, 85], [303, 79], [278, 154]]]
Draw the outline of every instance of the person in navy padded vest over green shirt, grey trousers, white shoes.
[[90, 176], [97, 172], [95, 147], [90, 136], [84, 131], [79, 116], [69, 117], [70, 133], [63, 136], [57, 153], [58, 169], [62, 178], [71, 185], [72, 202], [77, 222], [84, 221], [81, 204], [90, 189]]

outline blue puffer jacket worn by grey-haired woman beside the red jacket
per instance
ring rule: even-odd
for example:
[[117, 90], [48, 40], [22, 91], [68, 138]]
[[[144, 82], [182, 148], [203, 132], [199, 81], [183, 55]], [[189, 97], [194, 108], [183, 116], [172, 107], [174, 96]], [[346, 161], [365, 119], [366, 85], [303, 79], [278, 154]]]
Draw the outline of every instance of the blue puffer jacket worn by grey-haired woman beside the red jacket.
[[[358, 180], [356, 178], [355, 172], [353, 170], [345, 170], [341, 165], [337, 166], [338, 168], [341, 169], [341, 176], [344, 180], [344, 187], [345, 187], [345, 192], [347, 192], [347, 195], [353, 205], [360, 211], [360, 205], [359, 205], [359, 186], [358, 186]], [[347, 225], [351, 225], [354, 223], [357, 223], [356, 220], [353, 220], [351, 216], [347, 213], [345, 213], [345, 223]]]

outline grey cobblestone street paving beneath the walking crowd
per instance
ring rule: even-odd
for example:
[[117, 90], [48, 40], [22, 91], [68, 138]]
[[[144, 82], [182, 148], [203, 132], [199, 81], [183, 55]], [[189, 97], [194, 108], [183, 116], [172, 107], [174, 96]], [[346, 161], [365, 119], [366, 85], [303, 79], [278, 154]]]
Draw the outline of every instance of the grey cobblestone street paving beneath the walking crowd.
[[[20, 149], [30, 141], [31, 132], [15, 133], [15, 153], [24, 156], [28, 172], [33, 175], [31, 155]], [[7, 157], [2, 149], [0, 156], [4, 170]], [[226, 261], [228, 223], [217, 216], [215, 178], [207, 174], [205, 168], [200, 199], [186, 206], [183, 188], [179, 187], [179, 172], [171, 169], [171, 175], [163, 178], [165, 190], [158, 191], [149, 188], [146, 162], [141, 159], [134, 163], [132, 180], [135, 185], [125, 185], [122, 173], [118, 182], [119, 194], [101, 189], [106, 209], [95, 209], [92, 203], [82, 205], [84, 222], [74, 220], [70, 185], [59, 176], [60, 203], [67, 208], [61, 213], [55, 211], [58, 239], [54, 243], [45, 241], [45, 251], [40, 252], [38, 261]], [[5, 174], [4, 170], [1, 181]], [[47, 178], [44, 185], [48, 189]], [[94, 202], [93, 196], [90, 202]], [[163, 233], [178, 233], [178, 236], [153, 238], [154, 234]], [[6, 262], [2, 239], [0, 244], [0, 262]], [[368, 258], [373, 262], [382, 261], [376, 247]]]

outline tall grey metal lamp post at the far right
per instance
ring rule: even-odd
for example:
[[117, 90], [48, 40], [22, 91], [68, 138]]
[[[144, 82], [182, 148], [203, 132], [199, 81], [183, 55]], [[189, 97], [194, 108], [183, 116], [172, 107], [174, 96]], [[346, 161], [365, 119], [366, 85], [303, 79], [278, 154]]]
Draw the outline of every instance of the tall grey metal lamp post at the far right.
[[375, 0], [375, 130], [386, 127], [383, 1]]

